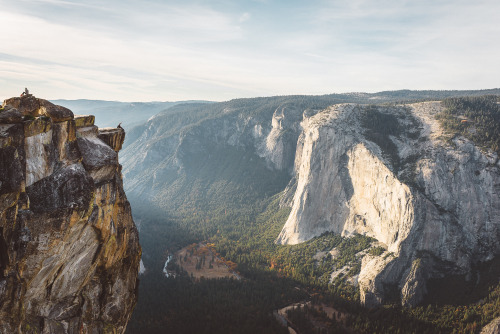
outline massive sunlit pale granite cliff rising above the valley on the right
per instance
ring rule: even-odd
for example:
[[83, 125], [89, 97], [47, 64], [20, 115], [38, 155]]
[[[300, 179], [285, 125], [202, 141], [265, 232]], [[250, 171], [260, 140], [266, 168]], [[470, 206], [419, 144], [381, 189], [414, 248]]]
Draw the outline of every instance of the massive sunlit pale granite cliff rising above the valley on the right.
[[277, 242], [333, 231], [383, 243], [384, 254], [362, 262], [358, 282], [368, 306], [394, 291], [404, 305], [417, 305], [430, 278], [466, 276], [499, 255], [498, 157], [462, 137], [442, 140], [434, 119], [440, 108], [347, 104], [305, 116], [297, 188]]

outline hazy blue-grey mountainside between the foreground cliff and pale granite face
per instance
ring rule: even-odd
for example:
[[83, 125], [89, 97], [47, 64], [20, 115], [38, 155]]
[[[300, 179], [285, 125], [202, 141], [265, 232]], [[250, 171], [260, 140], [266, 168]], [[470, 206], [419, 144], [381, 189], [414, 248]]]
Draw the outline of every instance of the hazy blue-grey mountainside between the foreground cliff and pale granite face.
[[293, 172], [302, 109], [267, 98], [254, 107], [250, 115], [240, 101], [189, 104], [152, 117], [123, 151], [129, 198], [201, 210], [283, 189]]

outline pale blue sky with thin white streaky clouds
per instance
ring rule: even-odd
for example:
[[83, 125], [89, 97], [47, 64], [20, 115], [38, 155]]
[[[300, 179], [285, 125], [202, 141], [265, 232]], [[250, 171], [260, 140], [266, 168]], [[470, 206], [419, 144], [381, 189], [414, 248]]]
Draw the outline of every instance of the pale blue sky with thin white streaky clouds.
[[500, 87], [498, 0], [0, 0], [0, 99]]

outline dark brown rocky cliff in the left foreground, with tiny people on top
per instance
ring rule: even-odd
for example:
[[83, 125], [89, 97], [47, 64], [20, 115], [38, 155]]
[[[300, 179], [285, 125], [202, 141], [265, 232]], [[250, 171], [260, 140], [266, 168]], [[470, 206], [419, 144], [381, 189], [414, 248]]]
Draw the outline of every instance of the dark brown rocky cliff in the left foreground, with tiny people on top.
[[0, 333], [123, 333], [141, 248], [123, 129], [32, 95], [0, 109]]

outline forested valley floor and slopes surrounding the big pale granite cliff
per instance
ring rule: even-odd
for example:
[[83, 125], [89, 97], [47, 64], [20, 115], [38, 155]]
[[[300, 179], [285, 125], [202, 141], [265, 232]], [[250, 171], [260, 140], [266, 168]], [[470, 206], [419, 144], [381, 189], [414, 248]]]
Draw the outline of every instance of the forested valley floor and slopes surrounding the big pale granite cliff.
[[[500, 91], [397, 91], [183, 104], [129, 131], [120, 158], [127, 194], [140, 222], [146, 272], [127, 332], [286, 333], [273, 311], [309, 301], [343, 315], [331, 319], [314, 307], [292, 312], [290, 319], [301, 324], [301, 333], [478, 333], [500, 316], [496, 262], [481, 269], [493, 277], [487, 281], [489, 297], [488, 289], [479, 293], [470, 287], [470, 295], [478, 293], [481, 302], [479, 297], [453, 303], [434, 300], [430, 306], [413, 309], [388, 303], [370, 310], [360, 306], [355, 282], [365, 254], [389, 260], [394, 256], [383, 245], [363, 235], [344, 238], [333, 233], [298, 245], [274, 241], [290, 213], [287, 203], [296, 187], [290, 163], [293, 166], [300, 136], [296, 125], [303, 114], [314, 115], [336, 103], [374, 105], [372, 113], [363, 109], [365, 135], [389, 159], [392, 154], [397, 164], [397, 146], [389, 138], [401, 130], [375, 105], [447, 99], [446, 115], [462, 113], [471, 123], [490, 117], [498, 124], [493, 98], [455, 99], [484, 94], [500, 95]], [[484, 104], [476, 103], [483, 99]], [[489, 111], [480, 117], [464, 103], [484, 105]], [[441, 119], [450, 119], [446, 117]], [[453, 126], [443, 126], [462, 129], [464, 125], [455, 119]], [[467, 136], [467, 132], [457, 134]], [[481, 137], [477, 143], [495, 149], [495, 136]], [[287, 146], [290, 142], [293, 150]], [[181, 273], [164, 277], [168, 256], [197, 242], [213, 243], [222, 258], [237, 264], [243, 278], [195, 281]]]

